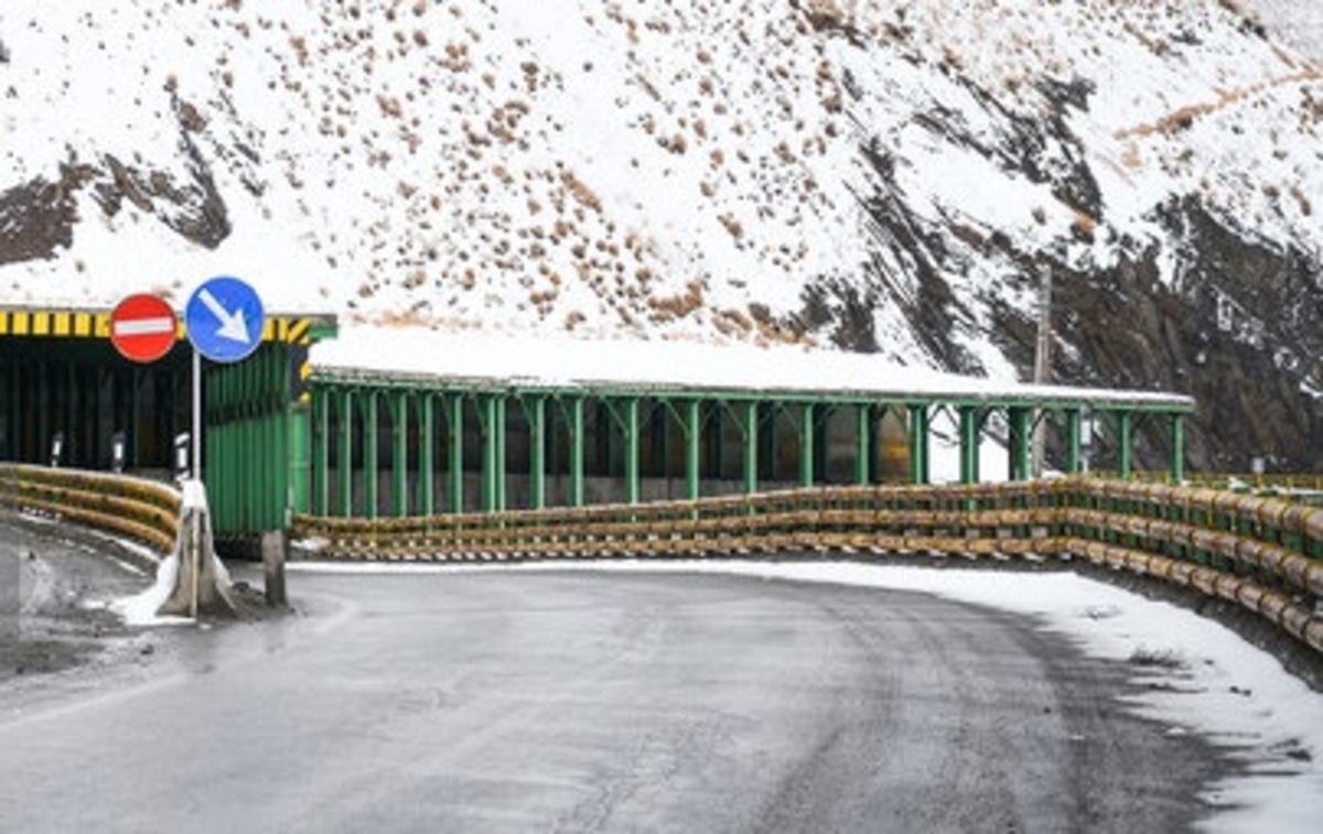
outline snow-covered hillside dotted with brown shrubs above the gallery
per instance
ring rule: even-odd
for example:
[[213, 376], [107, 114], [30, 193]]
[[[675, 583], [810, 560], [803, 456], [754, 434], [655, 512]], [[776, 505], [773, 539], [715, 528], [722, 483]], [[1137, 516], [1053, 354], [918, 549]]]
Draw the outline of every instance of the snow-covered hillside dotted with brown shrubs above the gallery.
[[1318, 468], [1323, 70], [1242, 5], [7, 0], [0, 297], [1023, 379], [1050, 268], [1058, 379]]

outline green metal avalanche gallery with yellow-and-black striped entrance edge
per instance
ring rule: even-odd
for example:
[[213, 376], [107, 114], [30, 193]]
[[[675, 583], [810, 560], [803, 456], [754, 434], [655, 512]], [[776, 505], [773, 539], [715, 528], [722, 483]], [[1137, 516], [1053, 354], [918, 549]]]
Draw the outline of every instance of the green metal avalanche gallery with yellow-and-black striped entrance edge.
[[[135, 363], [111, 345], [108, 309], [0, 307], [0, 461], [173, 477], [176, 444], [192, 431], [183, 330], [163, 360]], [[336, 336], [332, 316], [274, 315], [250, 358], [204, 362], [202, 476], [222, 538], [282, 527], [290, 513], [434, 515], [925, 484], [939, 449], [963, 482], [1021, 480], [1039, 427], [1053, 469], [1129, 476], [1142, 449], [1179, 480], [1193, 410], [1171, 394], [998, 390], [978, 379], [967, 390], [833, 386], [830, 373], [822, 387], [713, 385], [664, 362], [630, 378], [579, 373], [573, 360], [554, 374], [486, 374], [480, 360], [456, 370], [438, 352], [425, 370], [417, 356], [401, 362], [409, 371], [363, 369], [345, 350], [320, 361], [319, 344]], [[999, 472], [983, 472], [988, 437], [1005, 461]]]

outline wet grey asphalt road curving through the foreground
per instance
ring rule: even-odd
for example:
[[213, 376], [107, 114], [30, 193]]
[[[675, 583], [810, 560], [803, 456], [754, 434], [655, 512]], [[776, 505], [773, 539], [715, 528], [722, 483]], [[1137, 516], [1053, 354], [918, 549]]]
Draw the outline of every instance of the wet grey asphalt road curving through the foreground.
[[1125, 669], [923, 595], [620, 571], [291, 589], [299, 616], [179, 628], [148, 679], [4, 711], [0, 830], [1154, 831], [1221, 775], [1119, 706]]

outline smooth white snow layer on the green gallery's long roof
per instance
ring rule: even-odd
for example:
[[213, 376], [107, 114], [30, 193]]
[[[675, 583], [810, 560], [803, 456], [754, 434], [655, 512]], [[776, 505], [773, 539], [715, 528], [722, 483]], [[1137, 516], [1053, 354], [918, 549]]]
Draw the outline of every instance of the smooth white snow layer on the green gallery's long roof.
[[860, 353], [427, 328], [344, 328], [335, 340], [312, 346], [312, 366], [323, 378], [455, 381], [479, 387], [811, 393], [1176, 411], [1193, 407], [1193, 399], [1179, 394], [1017, 385], [906, 367]]

